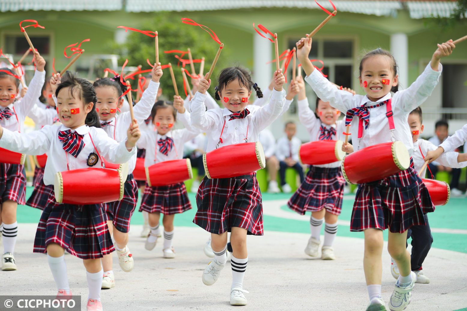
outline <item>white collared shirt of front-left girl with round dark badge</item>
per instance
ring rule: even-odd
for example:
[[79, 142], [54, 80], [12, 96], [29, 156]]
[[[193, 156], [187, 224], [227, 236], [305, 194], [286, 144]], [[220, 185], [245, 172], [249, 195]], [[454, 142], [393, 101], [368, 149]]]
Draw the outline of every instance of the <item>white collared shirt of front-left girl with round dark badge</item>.
[[[39, 131], [28, 134], [21, 134], [4, 129], [0, 139], [0, 147], [20, 153], [40, 155], [47, 152], [47, 162], [44, 171], [44, 184], [53, 185], [55, 174], [67, 170], [67, 159], [70, 170], [78, 168], [89, 168], [87, 160], [92, 152], [97, 153], [112, 163], [125, 163], [136, 154], [136, 148], [130, 152], [125, 146], [125, 142], [117, 143], [109, 138], [105, 131], [96, 127], [82, 125], [76, 131], [83, 135], [84, 147], [75, 158], [63, 149], [63, 142], [58, 139], [59, 131], [67, 131], [70, 128], [63, 124], [45, 125]], [[92, 141], [91, 141], [92, 138]], [[93, 144], [94, 143], [94, 144]], [[101, 168], [100, 159], [92, 168]]]

